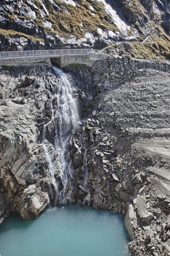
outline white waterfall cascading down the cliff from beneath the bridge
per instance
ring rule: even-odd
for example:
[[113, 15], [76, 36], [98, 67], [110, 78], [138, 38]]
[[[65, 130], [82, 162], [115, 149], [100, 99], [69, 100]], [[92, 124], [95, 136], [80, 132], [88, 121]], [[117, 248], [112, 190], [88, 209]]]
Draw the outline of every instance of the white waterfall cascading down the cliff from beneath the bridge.
[[[59, 180], [62, 182], [62, 186], [55, 185], [54, 188], [59, 195], [59, 202], [65, 202], [69, 199], [71, 191], [72, 178], [72, 168], [69, 162], [69, 152], [67, 152], [66, 147], [68, 140], [71, 136], [71, 130], [76, 128], [79, 122], [79, 114], [77, 108], [76, 99], [74, 99], [75, 88], [71, 86], [68, 76], [59, 68], [52, 66], [56, 75], [60, 77], [57, 84], [57, 92], [54, 97], [57, 100], [57, 109], [53, 108], [51, 103], [51, 120], [54, 122], [55, 128], [55, 151], [57, 153], [57, 164], [54, 166], [52, 163], [51, 156], [48, 152], [48, 148], [45, 145], [45, 139], [43, 141], [43, 148], [45, 152], [46, 161], [48, 164], [48, 169], [53, 176], [52, 183], [56, 184], [54, 174], [58, 170]], [[50, 123], [48, 122], [48, 124]], [[46, 124], [46, 126], [48, 126]], [[66, 193], [67, 192], [67, 193]]]

